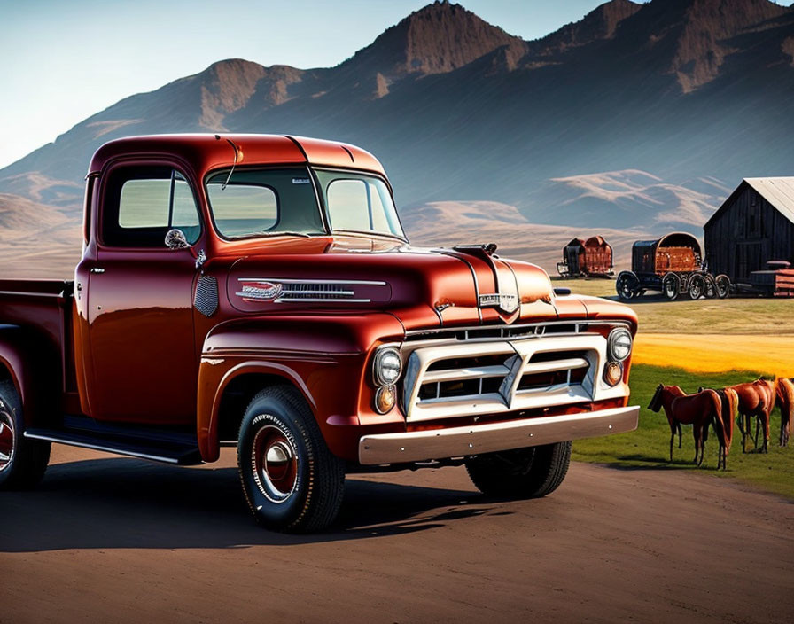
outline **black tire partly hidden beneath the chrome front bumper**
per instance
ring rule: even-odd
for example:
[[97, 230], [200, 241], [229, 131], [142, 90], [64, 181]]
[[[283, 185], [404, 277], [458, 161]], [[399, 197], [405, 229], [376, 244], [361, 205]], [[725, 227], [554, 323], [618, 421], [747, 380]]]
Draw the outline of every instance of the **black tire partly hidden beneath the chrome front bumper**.
[[471, 482], [485, 495], [540, 498], [554, 492], [571, 464], [571, 442], [488, 453], [466, 460]]

